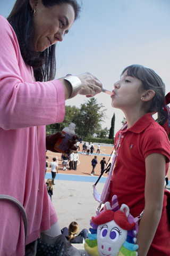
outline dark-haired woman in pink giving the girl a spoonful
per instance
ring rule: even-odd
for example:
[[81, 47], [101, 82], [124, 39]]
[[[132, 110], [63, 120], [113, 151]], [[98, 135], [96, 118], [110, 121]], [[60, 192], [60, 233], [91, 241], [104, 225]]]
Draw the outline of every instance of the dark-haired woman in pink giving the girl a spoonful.
[[[17, 0], [7, 20], [0, 16], [0, 194], [24, 206], [26, 244], [45, 230], [60, 235], [44, 166], [46, 149], [54, 151], [63, 135], [46, 136], [45, 125], [63, 121], [66, 99], [102, 90], [89, 73], [54, 80], [55, 44], [63, 41], [79, 11], [74, 0]], [[24, 255], [20, 210], [9, 201], [0, 201], [0, 209], [0, 255]]]

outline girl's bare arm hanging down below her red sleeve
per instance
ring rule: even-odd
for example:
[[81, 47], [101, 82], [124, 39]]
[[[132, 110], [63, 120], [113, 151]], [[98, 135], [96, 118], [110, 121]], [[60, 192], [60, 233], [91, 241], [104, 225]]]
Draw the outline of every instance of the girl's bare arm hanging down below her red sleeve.
[[164, 199], [165, 156], [150, 154], [145, 164], [145, 211], [137, 235], [138, 256], [146, 256], [148, 253], [160, 221]]

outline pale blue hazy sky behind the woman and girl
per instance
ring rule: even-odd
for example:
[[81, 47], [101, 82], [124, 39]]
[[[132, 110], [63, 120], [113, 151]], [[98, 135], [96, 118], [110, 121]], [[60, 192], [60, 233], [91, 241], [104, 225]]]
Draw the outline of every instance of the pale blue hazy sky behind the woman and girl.
[[[89, 72], [112, 91], [122, 70], [132, 64], [154, 69], [170, 91], [170, 1], [169, 0], [81, 0], [80, 19], [74, 22], [63, 42], [57, 43], [56, 78]], [[0, 0], [5, 18], [14, 0]], [[95, 96], [106, 109], [102, 127], [115, 132], [122, 127], [124, 114], [111, 106], [110, 95]], [[83, 95], [66, 101], [80, 108], [88, 101]]]

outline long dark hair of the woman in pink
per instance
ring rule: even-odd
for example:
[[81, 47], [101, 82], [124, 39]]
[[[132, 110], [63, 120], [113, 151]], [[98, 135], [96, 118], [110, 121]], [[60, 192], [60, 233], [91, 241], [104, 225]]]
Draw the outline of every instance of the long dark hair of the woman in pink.
[[[70, 4], [73, 6], [76, 20], [79, 17], [80, 5], [76, 0], [42, 0], [46, 6]], [[56, 58], [55, 44], [43, 52], [36, 52], [33, 47], [33, 23], [29, 0], [16, 0], [7, 20], [13, 27], [18, 38], [20, 51], [24, 61], [33, 67], [36, 81], [49, 81], [55, 78]]]

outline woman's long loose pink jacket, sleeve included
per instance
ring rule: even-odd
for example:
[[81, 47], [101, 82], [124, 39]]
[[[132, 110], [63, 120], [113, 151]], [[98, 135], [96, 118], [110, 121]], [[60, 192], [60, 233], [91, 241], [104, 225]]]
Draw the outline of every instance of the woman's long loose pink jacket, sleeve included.
[[[0, 194], [23, 204], [28, 244], [57, 221], [45, 184], [45, 125], [63, 121], [64, 89], [57, 80], [33, 82], [14, 30], [2, 16], [0, 30]], [[23, 220], [13, 203], [0, 201], [0, 230], [0, 255], [24, 255]]]

